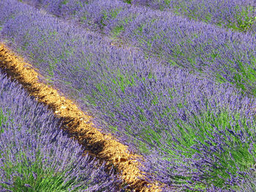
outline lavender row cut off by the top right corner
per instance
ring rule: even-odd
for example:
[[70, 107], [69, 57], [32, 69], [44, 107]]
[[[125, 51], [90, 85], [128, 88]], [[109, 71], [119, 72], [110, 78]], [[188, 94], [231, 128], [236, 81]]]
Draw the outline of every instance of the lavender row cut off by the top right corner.
[[151, 7], [182, 15], [193, 20], [211, 23], [236, 31], [255, 31], [256, 2], [253, 0], [123, 0], [128, 4]]

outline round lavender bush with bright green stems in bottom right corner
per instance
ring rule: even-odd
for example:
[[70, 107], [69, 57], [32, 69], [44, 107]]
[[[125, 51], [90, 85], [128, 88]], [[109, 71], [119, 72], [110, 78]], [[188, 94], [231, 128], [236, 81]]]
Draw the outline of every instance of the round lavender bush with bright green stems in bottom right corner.
[[[157, 171], [158, 179], [160, 173], [165, 183], [194, 183], [194, 188], [200, 186], [203, 190], [210, 187], [210, 183], [228, 190], [237, 188], [244, 178], [250, 178], [250, 169], [255, 166], [255, 130], [249, 127], [255, 126], [255, 117], [241, 118], [238, 113], [232, 115], [225, 110], [206, 114], [195, 117], [194, 126], [178, 122], [180, 130], [169, 134], [169, 150], [167, 142], [159, 150], [166, 152], [168, 161], [154, 162], [162, 165], [161, 171], [159, 165], [157, 169], [146, 166]], [[169, 172], [170, 177], [164, 177], [163, 172]], [[204, 180], [203, 184], [198, 185], [199, 180]]]

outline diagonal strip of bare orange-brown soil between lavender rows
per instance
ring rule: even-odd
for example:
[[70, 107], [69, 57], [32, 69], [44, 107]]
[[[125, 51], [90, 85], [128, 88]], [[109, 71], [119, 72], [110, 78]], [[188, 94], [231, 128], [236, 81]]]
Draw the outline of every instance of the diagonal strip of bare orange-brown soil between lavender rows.
[[89, 153], [99, 161], [106, 161], [108, 166], [114, 165], [121, 174], [124, 183], [129, 184], [130, 191], [161, 191], [159, 183], [148, 183], [139, 170], [139, 163], [135, 158], [139, 155], [131, 154], [126, 145], [122, 145], [110, 134], [102, 134], [91, 123], [91, 116], [79, 110], [74, 102], [61, 96], [61, 92], [39, 82], [42, 77], [34, 70], [31, 64], [27, 64], [22, 57], [12, 52], [10, 48], [0, 42], [0, 67], [12, 80], [17, 80], [31, 96], [39, 103], [45, 104], [54, 114], [63, 118], [63, 128], [72, 138], [77, 139]]

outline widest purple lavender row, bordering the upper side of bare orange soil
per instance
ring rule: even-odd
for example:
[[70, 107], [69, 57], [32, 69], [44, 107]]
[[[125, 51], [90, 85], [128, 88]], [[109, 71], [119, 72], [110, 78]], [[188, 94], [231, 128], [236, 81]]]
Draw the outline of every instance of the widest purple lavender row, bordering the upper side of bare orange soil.
[[16, 1], [1, 7], [7, 15], [1, 37], [22, 47], [19, 53], [29, 55], [48, 82], [90, 110], [98, 128], [145, 155], [149, 179], [229, 190], [249, 177], [255, 99], [227, 83], [159, 65], [131, 47], [113, 47], [100, 34]]

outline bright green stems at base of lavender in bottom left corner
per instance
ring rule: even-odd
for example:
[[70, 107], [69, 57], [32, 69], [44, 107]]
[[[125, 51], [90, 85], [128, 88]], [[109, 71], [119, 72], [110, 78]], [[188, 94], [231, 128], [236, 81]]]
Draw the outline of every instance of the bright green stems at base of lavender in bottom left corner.
[[[55, 172], [54, 167], [50, 167], [45, 169], [42, 162], [42, 155], [37, 151], [37, 160], [34, 161], [33, 164], [30, 164], [26, 154], [23, 150], [20, 150], [18, 154], [16, 154], [16, 158], [18, 164], [12, 164], [12, 161], [5, 161], [2, 169], [6, 172], [7, 175], [11, 175], [13, 172], [17, 172], [15, 177], [14, 185], [10, 186], [7, 184], [0, 184], [4, 188], [9, 189], [11, 191], [68, 191], [72, 185], [75, 185], [75, 178], [73, 180], [69, 180], [67, 183], [64, 183], [65, 172], [69, 170], [65, 170], [64, 172]], [[34, 177], [32, 174], [37, 175]], [[27, 186], [26, 186], [26, 185]], [[28, 186], [30, 185], [30, 186]], [[72, 191], [79, 191], [79, 188], [75, 188]]]

